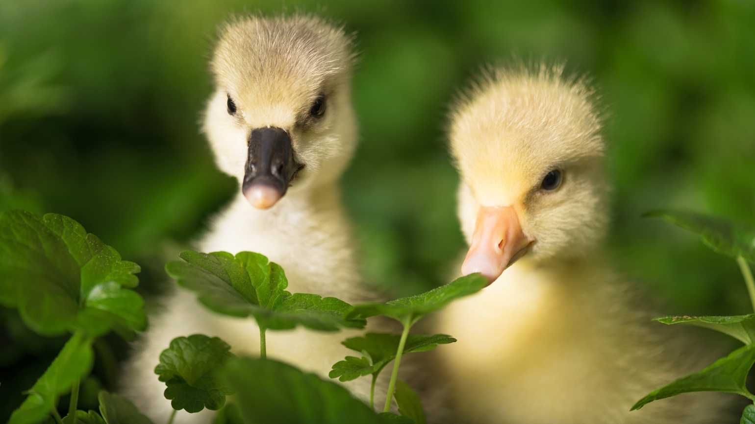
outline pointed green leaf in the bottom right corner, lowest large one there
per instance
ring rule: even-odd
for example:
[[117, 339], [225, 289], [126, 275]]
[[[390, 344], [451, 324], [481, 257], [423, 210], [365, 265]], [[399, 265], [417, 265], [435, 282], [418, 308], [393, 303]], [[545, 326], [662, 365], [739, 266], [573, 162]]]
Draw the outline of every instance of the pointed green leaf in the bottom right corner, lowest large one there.
[[675, 382], [661, 389], [650, 392], [646, 397], [637, 401], [631, 410], [649, 404], [658, 399], [670, 398], [680, 393], [688, 392], [730, 392], [747, 398], [752, 398], [745, 386], [747, 373], [755, 363], [755, 345], [742, 346], [730, 353], [726, 358], [720, 358], [704, 370], [677, 379]]

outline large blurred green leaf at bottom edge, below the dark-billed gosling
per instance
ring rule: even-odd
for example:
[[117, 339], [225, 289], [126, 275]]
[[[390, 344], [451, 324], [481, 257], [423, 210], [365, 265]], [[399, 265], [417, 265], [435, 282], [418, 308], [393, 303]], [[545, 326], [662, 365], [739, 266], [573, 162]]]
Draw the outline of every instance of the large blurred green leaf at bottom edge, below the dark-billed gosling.
[[343, 386], [270, 359], [239, 358], [223, 372], [248, 424], [381, 424]]

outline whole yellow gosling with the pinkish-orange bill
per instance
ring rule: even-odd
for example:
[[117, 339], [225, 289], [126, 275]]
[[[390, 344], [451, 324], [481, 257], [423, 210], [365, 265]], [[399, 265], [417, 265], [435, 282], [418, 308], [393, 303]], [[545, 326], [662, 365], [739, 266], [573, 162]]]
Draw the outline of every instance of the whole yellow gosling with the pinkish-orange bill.
[[693, 361], [700, 346], [652, 323], [604, 257], [600, 132], [593, 91], [562, 68], [488, 72], [453, 108], [461, 272], [492, 282], [436, 323], [458, 337], [436, 351], [455, 422], [726, 422], [733, 397], [710, 393], [630, 412], [713, 358]]

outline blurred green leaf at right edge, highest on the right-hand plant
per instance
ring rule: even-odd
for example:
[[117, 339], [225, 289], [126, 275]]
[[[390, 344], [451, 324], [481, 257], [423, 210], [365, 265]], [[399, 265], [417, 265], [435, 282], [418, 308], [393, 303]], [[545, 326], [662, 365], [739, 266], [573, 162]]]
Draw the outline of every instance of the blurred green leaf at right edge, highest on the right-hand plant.
[[652, 210], [645, 217], [659, 217], [699, 235], [704, 244], [729, 257], [743, 257], [755, 263], [755, 229], [719, 217], [693, 212]]

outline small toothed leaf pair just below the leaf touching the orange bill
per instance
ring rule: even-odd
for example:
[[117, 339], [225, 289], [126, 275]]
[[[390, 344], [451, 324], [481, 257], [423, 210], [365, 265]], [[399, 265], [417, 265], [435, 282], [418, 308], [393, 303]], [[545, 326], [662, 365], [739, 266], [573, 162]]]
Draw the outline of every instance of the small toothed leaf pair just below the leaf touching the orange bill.
[[[399, 349], [398, 334], [367, 333], [365, 336], [351, 337], [341, 342], [342, 345], [356, 352], [362, 353], [362, 358], [347, 356], [344, 361], [333, 364], [328, 373], [331, 378], [340, 381], [350, 381], [360, 376], [378, 374], [383, 368], [396, 358]], [[454, 343], [455, 338], [446, 334], [425, 336], [410, 334], [404, 345], [404, 353], [425, 352], [435, 349], [438, 345]]]

